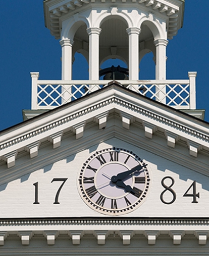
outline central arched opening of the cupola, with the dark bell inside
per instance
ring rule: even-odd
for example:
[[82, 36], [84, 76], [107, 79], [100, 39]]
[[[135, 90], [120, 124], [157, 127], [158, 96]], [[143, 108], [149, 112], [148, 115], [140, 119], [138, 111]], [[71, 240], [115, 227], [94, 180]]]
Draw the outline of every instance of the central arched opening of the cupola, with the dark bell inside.
[[128, 78], [128, 25], [121, 17], [113, 16], [101, 24], [99, 36], [99, 79]]

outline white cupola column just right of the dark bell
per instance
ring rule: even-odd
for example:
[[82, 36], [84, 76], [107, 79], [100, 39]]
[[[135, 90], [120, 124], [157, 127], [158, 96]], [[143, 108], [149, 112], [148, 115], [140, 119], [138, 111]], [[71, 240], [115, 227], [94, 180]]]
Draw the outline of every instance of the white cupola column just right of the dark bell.
[[139, 72], [139, 53], [138, 53], [138, 35], [140, 35], [140, 28], [127, 28], [128, 33], [128, 69], [129, 80], [138, 80]]

